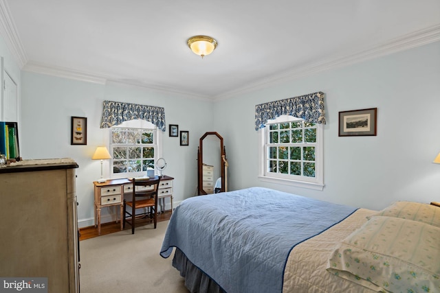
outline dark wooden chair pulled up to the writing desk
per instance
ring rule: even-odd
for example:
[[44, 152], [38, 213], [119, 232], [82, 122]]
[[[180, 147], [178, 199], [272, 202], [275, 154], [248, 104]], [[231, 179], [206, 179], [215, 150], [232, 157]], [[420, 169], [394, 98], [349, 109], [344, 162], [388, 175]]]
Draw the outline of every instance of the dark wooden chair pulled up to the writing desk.
[[[131, 224], [131, 234], [135, 233], [135, 218], [146, 218], [154, 220], [154, 228], [157, 226], [157, 189], [159, 189], [160, 178], [149, 180], [135, 180], [133, 178], [133, 191], [131, 202], [124, 199], [124, 228], [125, 222]], [[136, 187], [151, 187], [143, 190], [136, 190]], [[131, 207], [131, 213], [126, 211], [126, 206]], [[143, 213], [136, 213], [137, 209], [146, 209]], [[128, 217], [127, 217], [128, 216]]]

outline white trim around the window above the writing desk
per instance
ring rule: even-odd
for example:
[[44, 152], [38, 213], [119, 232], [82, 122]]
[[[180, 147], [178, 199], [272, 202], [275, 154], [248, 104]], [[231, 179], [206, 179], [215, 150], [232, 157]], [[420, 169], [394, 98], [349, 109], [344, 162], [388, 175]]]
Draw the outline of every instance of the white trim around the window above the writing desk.
[[[159, 130], [159, 128], [157, 128], [157, 126], [155, 126], [154, 124], [152, 124], [151, 122], [145, 121], [145, 120], [141, 120], [141, 119], [137, 119], [137, 120], [131, 120], [131, 121], [124, 121], [122, 122], [122, 124], [120, 125], [115, 125], [112, 127], [118, 127], [118, 128], [147, 128], [147, 129], [155, 129], [156, 130], [156, 139], [157, 139], [157, 159], [162, 158], [162, 150], [163, 150], [163, 131]], [[108, 129], [108, 131], [105, 132], [104, 134], [104, 139], [105, 141], [107, 141], [106, 146], [107, 146], [107, 150], [110, 150], [110, 137], [111, 137], [111, 128]], [[109, 175], [111, 177], [111, 179], [116, 179], [116, 178], [126, 178], [128, 176], [128, 174], [133, 175], [135, 177], [137, 176], [142, 176], [142, 175], [146, 175], [144, 173], [144, 171], [142, 172], [136, 172], [136, 173], [120, 173], [120, 174], [113, 174], [113, 172], [111, 172], [111, 168], [113, 166], [113, 159], [109, 159], [106, 160], [109, 162], [108, 165], [108, 172]], [[155, 174], [157, 174], [156, 169], [155, 169]], [[133, 177], [131, 176], [131, 177]]]

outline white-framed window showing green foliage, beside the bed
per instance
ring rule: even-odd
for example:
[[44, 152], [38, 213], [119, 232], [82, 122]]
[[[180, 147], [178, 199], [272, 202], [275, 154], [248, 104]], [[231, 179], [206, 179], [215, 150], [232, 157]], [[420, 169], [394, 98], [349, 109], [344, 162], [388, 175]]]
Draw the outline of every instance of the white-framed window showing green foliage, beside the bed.
[[322, 190], [321, 124], [284, 115], [259, 131], [262, 180]]

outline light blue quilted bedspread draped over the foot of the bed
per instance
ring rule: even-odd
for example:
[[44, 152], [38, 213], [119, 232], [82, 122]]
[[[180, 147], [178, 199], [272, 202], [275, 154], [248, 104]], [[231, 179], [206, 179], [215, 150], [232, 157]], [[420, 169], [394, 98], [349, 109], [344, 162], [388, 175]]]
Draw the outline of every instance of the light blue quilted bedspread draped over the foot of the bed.
[[228, 293], [282, 292], [290, 250], [354, 211], [261, 187], [188, 198], [171, 216], [160, 255], [179, 248]]

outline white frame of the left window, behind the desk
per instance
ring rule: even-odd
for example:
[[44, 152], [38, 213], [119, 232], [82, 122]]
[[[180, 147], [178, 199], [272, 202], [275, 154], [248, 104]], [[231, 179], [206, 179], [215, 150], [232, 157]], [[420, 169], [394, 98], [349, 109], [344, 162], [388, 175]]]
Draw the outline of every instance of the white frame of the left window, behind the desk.
[[[154, 124], [144, 121], [144, 120], [131, 120], [125, 121], [118, 126], [112, 126], [109, 128], [107, 132], [107, 147], [109, 148], [109, 152], [111, 155], [111, 159], [109, 159], [109, 175], [110, 178], [132, 178], [132, 177], [141, 177], [146, 176], [146, 171], [140, 172], [124, 172], [124, 173], [113, 173], [113, 143], [112, 140], [112, 129], [114, 128], [133, 128], [133, 129], [141, 129], [141, 130], [153, 130], [153, 148], [155, 148], [155, 156], [154, 156], [154, 164], [157, 162], [157, 159], [162, 158], [162, 131], [157, 128]], [[115, 144], [117, 145], [117, 144]], [[133, 144], [140, 145], [140, 144]], [[154, 168], [155, 169], [155, 168]], [[156, 173], [156, 172], [155, 172]]]

